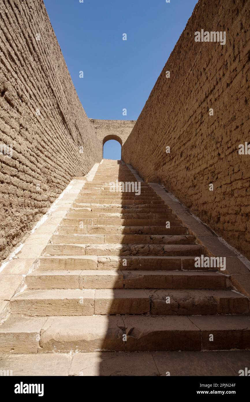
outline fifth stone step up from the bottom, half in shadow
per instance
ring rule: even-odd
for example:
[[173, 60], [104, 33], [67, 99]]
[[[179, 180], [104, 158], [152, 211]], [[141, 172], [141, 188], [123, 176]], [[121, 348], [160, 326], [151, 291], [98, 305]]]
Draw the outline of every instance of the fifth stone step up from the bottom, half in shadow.
[[[100, 235], [101, 236], [101, 235]], [[205, 254], [203, 246], [196, 244], [48, 244], [49, 255], [162, 255], [199, 256]]]

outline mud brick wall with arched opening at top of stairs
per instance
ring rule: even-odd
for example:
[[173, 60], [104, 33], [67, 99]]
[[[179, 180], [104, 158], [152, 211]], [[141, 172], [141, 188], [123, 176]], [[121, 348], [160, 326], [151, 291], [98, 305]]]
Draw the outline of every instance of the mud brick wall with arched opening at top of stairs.
[[100, 149], [101, 158], [103, 144], [110, 139], [115, 139], [123, 145], [136, 123], [136, 120], [89, 119], [89, 121], [96, 133], [96, 146]]

